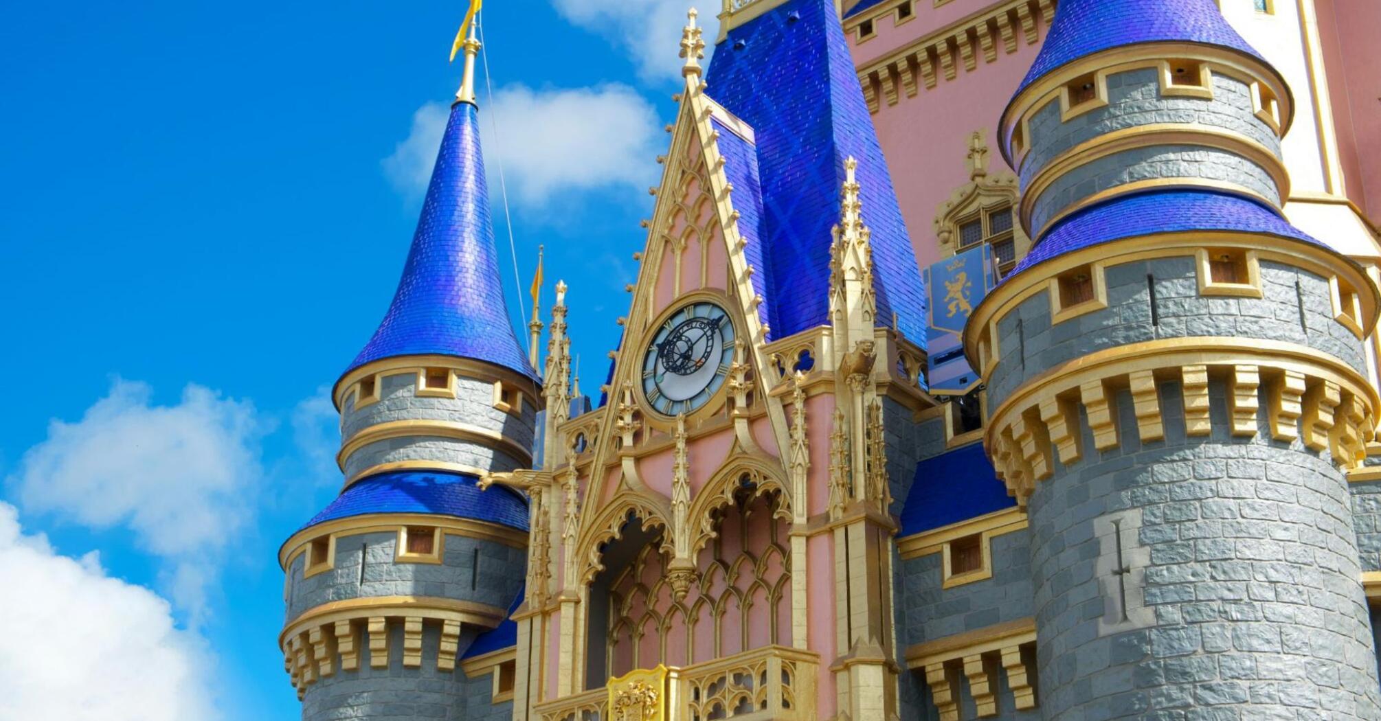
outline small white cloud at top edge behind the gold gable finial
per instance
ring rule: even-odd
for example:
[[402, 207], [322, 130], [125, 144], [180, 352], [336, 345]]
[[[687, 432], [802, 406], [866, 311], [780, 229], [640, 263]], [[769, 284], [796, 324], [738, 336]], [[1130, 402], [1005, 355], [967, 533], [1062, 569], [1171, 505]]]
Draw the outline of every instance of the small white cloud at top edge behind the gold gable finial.
[[720, 32], [718, 0], [552, 0], [557, 11], [573, 25], [594, 30], [624, 47], [644, 80], [681, 76], [681, 29], [686, 10], [699, 6], [696, 23], [704, 28], [706, 58]]

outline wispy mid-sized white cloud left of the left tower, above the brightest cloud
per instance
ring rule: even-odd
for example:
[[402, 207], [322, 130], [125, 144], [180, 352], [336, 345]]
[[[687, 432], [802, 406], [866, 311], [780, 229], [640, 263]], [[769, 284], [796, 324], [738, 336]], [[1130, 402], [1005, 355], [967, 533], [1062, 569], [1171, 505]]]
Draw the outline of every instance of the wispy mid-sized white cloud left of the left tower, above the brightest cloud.
[[267, 428], [249, 402], [195, 384], [178, 405], [151, 401], [148, 384], [116, 380], [81, 420], [51, 421], [10, 483], [29, 511], [133, 530], [197, 619], [226, 543], [253, 519]]

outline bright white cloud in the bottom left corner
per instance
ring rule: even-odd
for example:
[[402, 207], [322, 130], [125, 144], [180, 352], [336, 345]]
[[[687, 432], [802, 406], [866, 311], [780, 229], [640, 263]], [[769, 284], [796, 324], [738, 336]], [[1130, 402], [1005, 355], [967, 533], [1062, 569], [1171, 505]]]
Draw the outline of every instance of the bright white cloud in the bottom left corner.
[[95, 552], [57, 555], [0, 503], [0, 720], [210, 721], [204, 641], [168, 602], [112, 579]]

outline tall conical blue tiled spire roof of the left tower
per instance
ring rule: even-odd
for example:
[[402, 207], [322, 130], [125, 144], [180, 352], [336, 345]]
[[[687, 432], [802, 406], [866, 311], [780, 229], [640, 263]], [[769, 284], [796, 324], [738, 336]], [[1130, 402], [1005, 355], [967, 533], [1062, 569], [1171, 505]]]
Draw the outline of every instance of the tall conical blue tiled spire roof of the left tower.
[[388, 314], [347, 369], [400, 355], [454, 355], [537, 378], [514, 334], [474, 105], [450, 109], [407, 264]]

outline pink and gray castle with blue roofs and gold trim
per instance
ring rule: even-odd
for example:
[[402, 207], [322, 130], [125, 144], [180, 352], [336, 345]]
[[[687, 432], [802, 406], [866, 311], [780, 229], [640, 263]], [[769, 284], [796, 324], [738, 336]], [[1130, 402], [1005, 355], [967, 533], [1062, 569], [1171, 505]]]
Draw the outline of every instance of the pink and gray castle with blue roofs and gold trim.
[[510, 325], [471, 36], [279, 557], [304, 721], [1381, 720], [1377, 28], [692, 12], [597, 399], [563, 285]]

